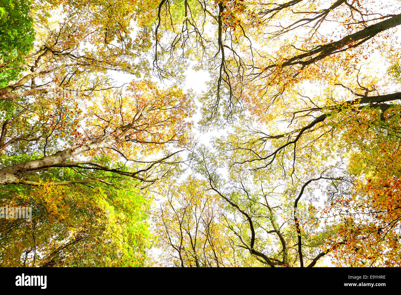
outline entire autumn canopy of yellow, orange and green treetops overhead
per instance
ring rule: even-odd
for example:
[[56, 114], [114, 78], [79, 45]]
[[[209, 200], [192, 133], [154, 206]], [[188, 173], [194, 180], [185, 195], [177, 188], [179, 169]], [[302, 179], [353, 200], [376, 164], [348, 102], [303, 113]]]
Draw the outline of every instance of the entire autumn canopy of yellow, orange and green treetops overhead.
[[399, 0], [0, 22], [0, 207], [32, 209], [0, 218], [1, 265], [400, 266]]

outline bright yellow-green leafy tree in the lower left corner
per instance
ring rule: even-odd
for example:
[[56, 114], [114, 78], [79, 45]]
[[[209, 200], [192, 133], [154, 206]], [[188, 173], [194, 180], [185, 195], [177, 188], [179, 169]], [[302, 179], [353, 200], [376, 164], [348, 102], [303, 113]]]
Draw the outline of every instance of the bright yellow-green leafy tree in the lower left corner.
[[2, 266], [143, 266], [151, 245], [149, 199], [138, 187], [135, 181], [3, 187], [2, 203], [31, 208], [32, 220], [0, 220]]

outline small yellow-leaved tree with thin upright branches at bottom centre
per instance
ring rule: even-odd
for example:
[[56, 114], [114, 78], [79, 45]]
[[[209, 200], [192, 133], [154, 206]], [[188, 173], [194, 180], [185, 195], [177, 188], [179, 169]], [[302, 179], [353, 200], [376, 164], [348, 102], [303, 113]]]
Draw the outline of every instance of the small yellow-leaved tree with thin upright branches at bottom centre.
[[225, 205], [194, 177], [172, 185], [154, 212], [160, 260], [180, 267], [238, 267], [255, 264], [229, 232]]

